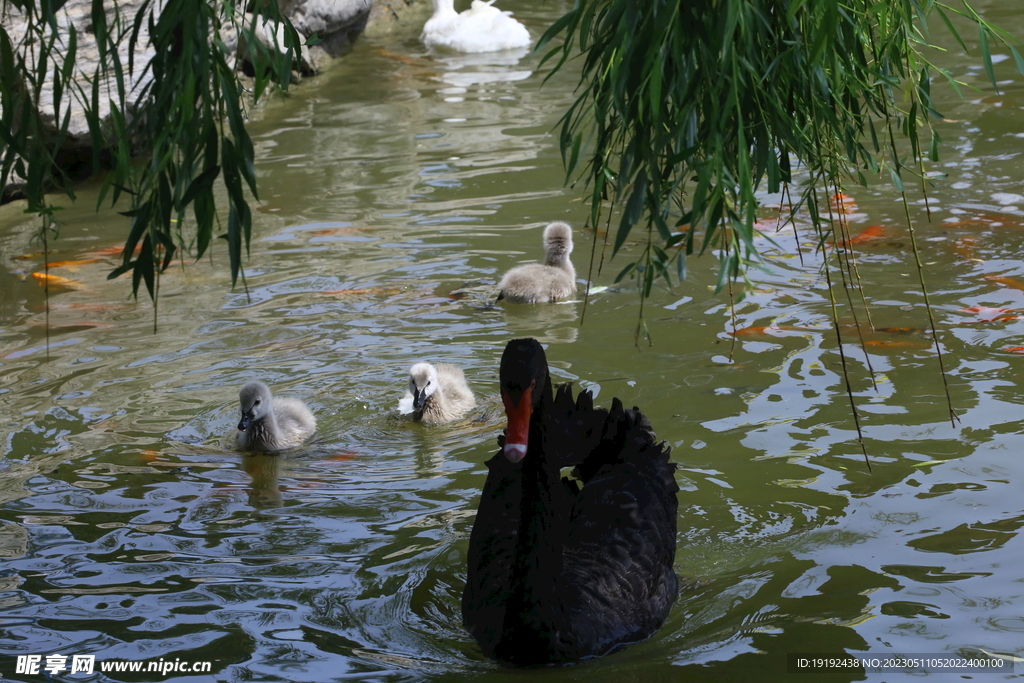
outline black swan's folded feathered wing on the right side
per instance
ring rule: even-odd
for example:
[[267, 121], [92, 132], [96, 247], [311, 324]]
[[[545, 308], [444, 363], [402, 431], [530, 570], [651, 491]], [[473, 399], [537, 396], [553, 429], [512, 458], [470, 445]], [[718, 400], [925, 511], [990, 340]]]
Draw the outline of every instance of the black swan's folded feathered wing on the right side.
[[[679, 486], [670, 449], [655, 443], [638, 409], [615, 399], [599, 445], [578, 467], [577, 497], [563, 549], [568, 602], [591, 613], [573, 621], [581, 646], [640, 640], [665, 621], [676, 599], [673, 571]], [[590, 641], [588, 644], [587, 641]]]

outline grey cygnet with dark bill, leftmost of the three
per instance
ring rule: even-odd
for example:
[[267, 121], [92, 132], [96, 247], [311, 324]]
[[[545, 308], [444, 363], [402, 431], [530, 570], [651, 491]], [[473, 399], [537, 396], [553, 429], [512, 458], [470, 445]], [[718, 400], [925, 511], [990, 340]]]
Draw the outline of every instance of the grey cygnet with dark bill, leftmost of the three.
[[270, 395], [262, 382], [249, 382], [239, 390], [242, 420], [234, 444], [242, 451], [284, 451], [316, 431], [316, 418], [297, 398]]

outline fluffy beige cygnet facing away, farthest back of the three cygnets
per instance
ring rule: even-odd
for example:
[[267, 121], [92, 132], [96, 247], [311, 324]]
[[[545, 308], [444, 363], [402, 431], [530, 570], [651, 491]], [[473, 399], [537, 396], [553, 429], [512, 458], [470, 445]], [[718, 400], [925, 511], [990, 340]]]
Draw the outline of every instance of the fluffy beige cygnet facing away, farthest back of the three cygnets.
[[555, 222], [544, 228], [544, 263], [517, 265], [498, 284], [498, 300], [513, 303], [561, 301], [575, 294], [575, 268], [572, 253], [572, 228]]

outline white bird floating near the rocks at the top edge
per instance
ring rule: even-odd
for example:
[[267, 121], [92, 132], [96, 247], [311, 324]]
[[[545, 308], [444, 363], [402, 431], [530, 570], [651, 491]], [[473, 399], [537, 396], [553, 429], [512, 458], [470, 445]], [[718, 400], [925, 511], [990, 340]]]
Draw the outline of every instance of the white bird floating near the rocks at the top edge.
[[493, 6], [495, 0], [473, 0], [473, 5], [460, 13], [455, 0], [433, 0], [434, 14], [423, 25], [420, 37], [430, 47], [446, 47], [459, 52], [495, 52], [528, 47], [529, 32]]

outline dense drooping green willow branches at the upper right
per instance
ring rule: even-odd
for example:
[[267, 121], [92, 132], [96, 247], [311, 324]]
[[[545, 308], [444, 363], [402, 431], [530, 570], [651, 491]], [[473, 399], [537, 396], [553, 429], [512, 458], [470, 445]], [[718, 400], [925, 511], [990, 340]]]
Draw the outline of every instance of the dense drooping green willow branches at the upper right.
[[[582, 52], [560, 143], [570, 179], [589, 187], [591, 224], [620, 210], [613, 253], [646, 224], [646, 248], [620, 280], [638, 276], [646, 296], [709, 248], [720, 250], [720, 288], [743, 275], [758, 258], [762, 187], [806, 208], [821, 245], [834, 221], [819, 200], [846, 180], [881, 172], [903, 191], [918, 176], [924, 191], [923, 157], [937, 159], [940, 141], [932, 78], [957, 85], [926, 55], [929, 20], [963, 46], [956, 15], [978, 27], [993, 84], [992, 40], [1024, 67], [1010, 37], [966, 3], [577, 0], [538, 50], [564, 36], [544, 57], [556, 71]], [[795, 175], [806, 180], [796, 186]]]

